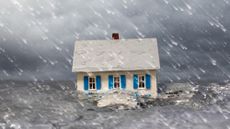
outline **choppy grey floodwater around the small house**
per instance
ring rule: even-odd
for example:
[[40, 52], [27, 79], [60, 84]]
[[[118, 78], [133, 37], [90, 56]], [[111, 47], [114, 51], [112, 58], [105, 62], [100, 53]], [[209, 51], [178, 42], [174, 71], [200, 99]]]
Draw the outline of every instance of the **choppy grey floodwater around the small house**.
[[230, 85], [198, 85], [185, 103], [119, 110], [81, 103], [72, 82], [0, 83], [0, 129], [230, 129]]

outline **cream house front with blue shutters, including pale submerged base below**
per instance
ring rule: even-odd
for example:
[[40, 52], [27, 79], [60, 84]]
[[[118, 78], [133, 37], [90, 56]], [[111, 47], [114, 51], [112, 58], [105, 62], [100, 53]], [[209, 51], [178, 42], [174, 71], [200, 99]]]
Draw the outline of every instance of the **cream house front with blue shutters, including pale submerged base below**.
[[[111, 77], [113, 77], [111, 79]], [[116, 77], [120, 78], [118, 87]], [[83, 79], [85, 78], [85, 79]], [[87, 79], [86, 79], [87, 78]], [[95, 78], [95, 89], [89, 89], [90, 79]], [[110, 78], [110, 79], [109, 79]], [[140, 79], [144, 79], [143, 87], [139, 87]], [[94, 72], [77, 74], [77, 93], [79, 100], [92, 100], [98, 107], [124, 105], [135, 108], [139, 98], [156, 98], [156, 71], [126, 71], [126, 72]], [[87, 81], [88, 80], [88, 81]], [[87, 84], [88, 82], [88, 84]], [[136, 84], [135, 84], [136, 83]], [[82, 87], [84, 85], [84, 87]]]

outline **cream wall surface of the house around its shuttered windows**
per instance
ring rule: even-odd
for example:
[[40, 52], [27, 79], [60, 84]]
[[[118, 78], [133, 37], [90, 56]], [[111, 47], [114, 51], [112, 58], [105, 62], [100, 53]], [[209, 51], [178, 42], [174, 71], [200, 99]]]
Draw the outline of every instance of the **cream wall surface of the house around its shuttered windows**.
[[[133, 75], [134, 74], [143, 74], [146, 73], [151, 75], [151, 89], [134, 89], [133, 88]], [[84, 76], [101, 76], [101, 90], [97, 91], [100, 93], [107, 92], [109, 90], [108, 86], [108, 76], [120, 76], [120, 75], [126, 75], [126, 89], [127, 91], [132, 92], [138, 92], [141, 95], [144, 94], [151, 94], [152, 97], [157, 97], [157, 82], [156, 82], [156, 71], [155, 70], [149, 70], [149, 71], [129, 71], [129, 72], [95, 72], [95, 73], [77, 73], [77, 91], [78, 92], [85, 92], [84, 91]]]

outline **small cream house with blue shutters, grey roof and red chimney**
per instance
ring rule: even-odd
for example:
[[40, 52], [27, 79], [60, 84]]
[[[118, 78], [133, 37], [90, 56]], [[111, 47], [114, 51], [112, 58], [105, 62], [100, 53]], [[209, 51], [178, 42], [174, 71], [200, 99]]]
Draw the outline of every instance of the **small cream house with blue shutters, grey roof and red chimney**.
[[75, 44], [73, 68], [78, 93], [120, 90], [157, 97], [156, 70], [160, 68], [157, 40], [84, 40]]

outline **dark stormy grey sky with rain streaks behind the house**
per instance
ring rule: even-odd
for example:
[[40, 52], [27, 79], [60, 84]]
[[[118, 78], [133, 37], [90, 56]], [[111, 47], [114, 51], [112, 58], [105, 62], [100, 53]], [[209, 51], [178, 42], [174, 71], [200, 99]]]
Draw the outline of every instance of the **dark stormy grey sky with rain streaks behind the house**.
[[76, 40], [158, 39], [160, 81], [230, 80], [230, 0], [0, 0], [0, 79], [74, 80]]

